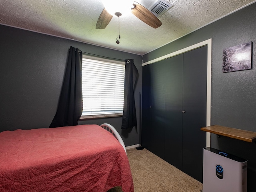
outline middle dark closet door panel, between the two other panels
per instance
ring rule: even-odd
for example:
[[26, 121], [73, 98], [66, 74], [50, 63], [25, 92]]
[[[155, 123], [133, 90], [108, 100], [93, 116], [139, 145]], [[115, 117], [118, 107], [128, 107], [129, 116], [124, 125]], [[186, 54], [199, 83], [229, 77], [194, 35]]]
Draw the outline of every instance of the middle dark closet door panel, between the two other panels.
[[168, 75], [165, 76], [164, 160], [182, 170], [182, 84], [183, 55], [164, 60]]

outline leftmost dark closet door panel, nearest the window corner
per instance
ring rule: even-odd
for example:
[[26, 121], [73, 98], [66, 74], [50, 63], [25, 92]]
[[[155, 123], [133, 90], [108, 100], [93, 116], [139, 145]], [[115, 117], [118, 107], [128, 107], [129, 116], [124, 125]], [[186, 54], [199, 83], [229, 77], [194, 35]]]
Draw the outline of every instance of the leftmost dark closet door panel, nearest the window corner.
[[146, 65], [142, 76], [142, 146], [164, 158], [164, 66]]

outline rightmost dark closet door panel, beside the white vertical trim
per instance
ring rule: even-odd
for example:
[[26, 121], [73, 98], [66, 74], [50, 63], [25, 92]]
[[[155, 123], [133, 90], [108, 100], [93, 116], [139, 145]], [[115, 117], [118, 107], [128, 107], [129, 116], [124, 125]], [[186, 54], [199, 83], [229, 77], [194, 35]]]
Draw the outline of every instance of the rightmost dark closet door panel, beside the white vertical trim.
[[207, 46], [184, 53], [182, 171], [202, 182], [206, 133]]

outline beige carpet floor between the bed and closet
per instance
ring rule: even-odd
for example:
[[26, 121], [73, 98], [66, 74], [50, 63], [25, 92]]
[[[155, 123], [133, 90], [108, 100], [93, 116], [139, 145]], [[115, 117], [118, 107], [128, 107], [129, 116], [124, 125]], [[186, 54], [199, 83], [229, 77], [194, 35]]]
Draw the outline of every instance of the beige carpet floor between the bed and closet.
[[[203, 184], [188, 176], [152, 152], [127, 150], [134, 192], [200, 192]], [[108, 192], [122, 192], [120, 187]]]

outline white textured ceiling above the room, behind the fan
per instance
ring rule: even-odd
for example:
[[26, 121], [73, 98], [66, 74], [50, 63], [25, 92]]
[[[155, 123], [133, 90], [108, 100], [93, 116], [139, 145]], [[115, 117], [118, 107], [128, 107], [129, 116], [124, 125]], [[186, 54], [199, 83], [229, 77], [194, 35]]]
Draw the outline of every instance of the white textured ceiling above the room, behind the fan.
[[[156, 0], [137, 0], [150, 8]], [[174, 6], [159, 16], [154, 29], [133, 14], [121, 16], [120, 44], [117, 17], [96, 29], [104, 9], [101, 0], [0, 0], [0, 24], [69, 38], [143, 55], [188, 34], [255, 0], [170, 0]]]

